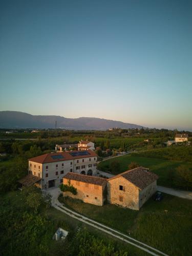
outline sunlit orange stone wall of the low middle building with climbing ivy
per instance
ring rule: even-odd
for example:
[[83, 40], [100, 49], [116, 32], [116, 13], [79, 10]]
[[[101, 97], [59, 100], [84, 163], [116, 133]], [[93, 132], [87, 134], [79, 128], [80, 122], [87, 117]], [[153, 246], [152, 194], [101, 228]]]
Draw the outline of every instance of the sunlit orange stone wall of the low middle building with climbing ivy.
[[102, 206], [105, 201], [104, 190], [106, 187], [106, 182], [102, 185], [96, 185], [76, 180], [69, 181], [69, 179], [64, 178], [63, 184], [71, 184], [77, 188], [77, 195], [73, 195], [71, 192], [66, 191], [63, 192], [63, 197], [69, 196], [74, 199], [80, 199], [84, 203], [95, 204], [99, 206]]

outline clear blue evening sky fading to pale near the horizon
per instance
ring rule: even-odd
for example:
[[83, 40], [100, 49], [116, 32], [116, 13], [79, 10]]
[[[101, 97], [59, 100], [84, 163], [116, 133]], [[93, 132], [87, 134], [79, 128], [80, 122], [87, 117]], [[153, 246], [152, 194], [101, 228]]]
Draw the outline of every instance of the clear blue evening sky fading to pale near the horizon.
[[192, 2], [1, 1], [0, 111], [192, 131]]

